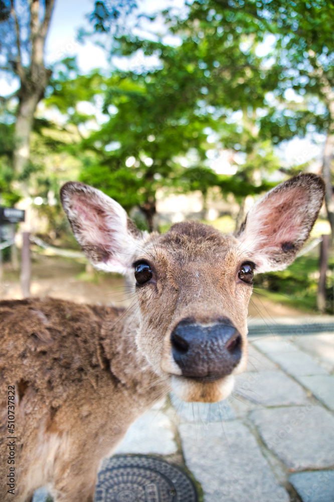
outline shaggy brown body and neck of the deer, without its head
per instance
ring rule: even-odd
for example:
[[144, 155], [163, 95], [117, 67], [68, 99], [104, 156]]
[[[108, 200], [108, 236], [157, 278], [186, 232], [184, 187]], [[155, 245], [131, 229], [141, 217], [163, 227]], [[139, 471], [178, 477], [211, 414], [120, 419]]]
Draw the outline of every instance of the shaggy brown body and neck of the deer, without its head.
[[[169, 391], [168, 381], [136, 350], [135, 324], [128, 328], [122, 309], [51, 298], [3, 301], [0, 318], [1, 500], [13, 498], [5, 486], [12, 465], [16, 500], [30, 500], [43, 485], [57, 500], [92, 500], [101, 459]], [[9, 386], [15, 434], [3, 399]], [[3, 461], [11, 437], [15, 464]]]

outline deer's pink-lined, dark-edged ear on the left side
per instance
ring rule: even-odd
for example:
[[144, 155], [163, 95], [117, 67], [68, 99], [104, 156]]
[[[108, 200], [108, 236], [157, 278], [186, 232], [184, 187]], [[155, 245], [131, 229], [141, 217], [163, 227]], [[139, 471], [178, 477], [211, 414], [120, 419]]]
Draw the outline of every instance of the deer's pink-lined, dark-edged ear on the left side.
[[142, 234], [124, 209], [100, 190], [79, 182], [65, 183], [60, 198], [90, 262], [100, 270], [125, 274]]

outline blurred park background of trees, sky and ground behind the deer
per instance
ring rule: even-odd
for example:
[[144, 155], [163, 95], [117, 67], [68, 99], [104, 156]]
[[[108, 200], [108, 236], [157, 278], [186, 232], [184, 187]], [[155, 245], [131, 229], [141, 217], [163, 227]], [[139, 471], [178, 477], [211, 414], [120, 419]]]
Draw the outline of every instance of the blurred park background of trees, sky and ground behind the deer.
[[0, 298], [129, 302], [81, 256], [68, 180], [141, 229], [230, 232], [313, 172], [326, 200], [308, 250], [257, 277], [249, 314], [333, 314], [333, 33], [326, 0], [0, 0]]

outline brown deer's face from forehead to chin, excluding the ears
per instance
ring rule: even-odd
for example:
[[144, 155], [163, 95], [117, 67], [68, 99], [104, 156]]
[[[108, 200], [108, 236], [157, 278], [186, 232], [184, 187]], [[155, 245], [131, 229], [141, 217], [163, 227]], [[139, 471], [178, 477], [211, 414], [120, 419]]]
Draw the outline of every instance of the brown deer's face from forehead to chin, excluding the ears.
[[223, 399], [246, 364], [252, 265], [238, 247], [210, 226], [178, 223], [152, 235], [134, 263], [138, 347], [157, 372], [173, 375], [184, 400]]

